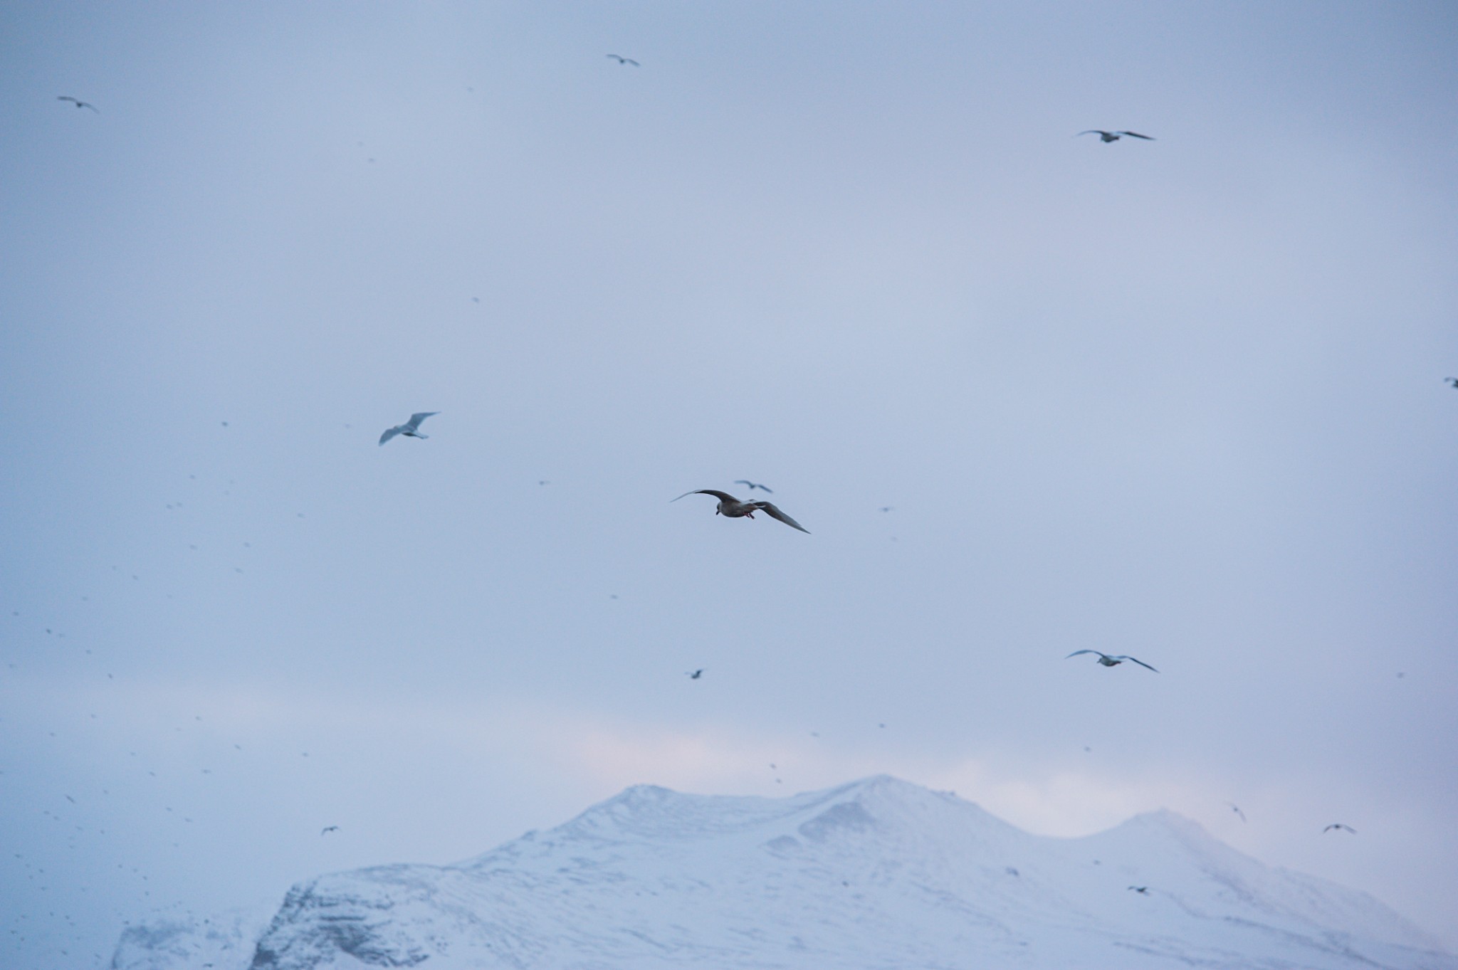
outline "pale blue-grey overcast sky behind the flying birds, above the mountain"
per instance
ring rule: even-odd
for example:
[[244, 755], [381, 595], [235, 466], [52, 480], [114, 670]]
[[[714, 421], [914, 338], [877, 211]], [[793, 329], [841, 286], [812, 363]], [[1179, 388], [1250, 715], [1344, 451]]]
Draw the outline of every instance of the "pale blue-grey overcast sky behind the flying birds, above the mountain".
[[1458, 947], [1451, 3], [0, 10], [0, 964], [873, 772]]

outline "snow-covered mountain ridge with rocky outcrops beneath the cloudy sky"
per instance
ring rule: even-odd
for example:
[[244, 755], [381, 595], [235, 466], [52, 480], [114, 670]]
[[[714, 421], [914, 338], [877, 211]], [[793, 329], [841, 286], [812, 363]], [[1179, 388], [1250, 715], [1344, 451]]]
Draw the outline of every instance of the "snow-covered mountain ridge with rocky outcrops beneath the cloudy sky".
[[134, 928], [112, 967], [1458, 970], [1371, 896], [1174, 813], [1054, 839], [886, 776], [792, 798], [640, 785], [456, 865], [300, 883], [254, 945], [246, 923]]

